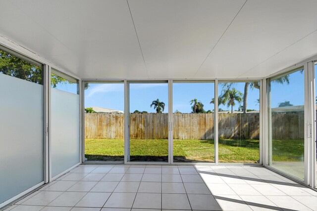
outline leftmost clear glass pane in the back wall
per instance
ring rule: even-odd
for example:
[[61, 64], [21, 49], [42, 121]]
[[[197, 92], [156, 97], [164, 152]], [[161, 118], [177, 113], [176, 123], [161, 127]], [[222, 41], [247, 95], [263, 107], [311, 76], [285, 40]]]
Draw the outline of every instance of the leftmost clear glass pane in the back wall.
[[124, 161], [123, 111], [123, 83], [85, 83], [85, 160]]

